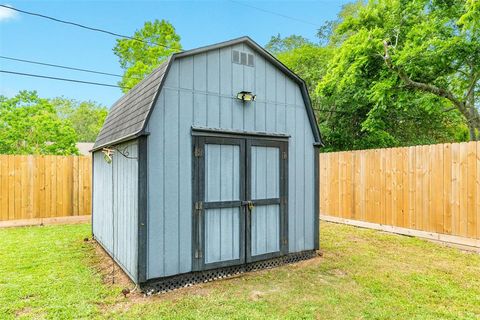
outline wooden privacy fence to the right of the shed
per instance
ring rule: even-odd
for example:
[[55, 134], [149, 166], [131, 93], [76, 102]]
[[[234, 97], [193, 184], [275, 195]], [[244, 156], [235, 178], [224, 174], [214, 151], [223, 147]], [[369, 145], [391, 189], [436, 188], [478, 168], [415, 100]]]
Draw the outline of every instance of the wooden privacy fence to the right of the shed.
[[320, 213], [480, 239], [480, 142], [323, 153]]

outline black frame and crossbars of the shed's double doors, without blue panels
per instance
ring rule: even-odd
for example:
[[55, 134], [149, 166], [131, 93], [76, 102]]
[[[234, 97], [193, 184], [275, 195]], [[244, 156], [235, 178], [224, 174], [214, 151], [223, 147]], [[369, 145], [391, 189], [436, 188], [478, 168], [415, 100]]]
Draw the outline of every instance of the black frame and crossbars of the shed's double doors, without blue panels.
[[[288, 253], [288, 140], [284, 134], [268, 134], [245, 131], [224, 131], [219, 129], [192, 127], [192, 271], [242, 265]], [[213, 143], [212, 143], [213, 142]], [[219, 206], [240, 202], [240, 259], [205, 264], [205, 144], [240, 145], [240, 201], [218, 202]], [[273, 146], [280, 148], [280, 251], [251, 257], [251, 223], [247, 209], [247, 197], [251, 195], [251, 146]], [[203, 168], [203, 170], [201, 170]], [[283, 183], [282, 183], [283, 181]], [[247, 183], [248, 182], [248, 183]], [[247, 191], [248, 190], [248, 191]], [[267, 204], [263, 200], [255, 203]], [[267, 201], [268, 202], [268, 201]], [[277, 202], [278, 203], [278, 202]], [[211, 205], [207, 205], [211, 208]], [[248, 212], [248, 213], [247, 213]], [[248, 222], [248, 223], [247, 223]], [[247, 238], [248, 237], [248, 238]]]

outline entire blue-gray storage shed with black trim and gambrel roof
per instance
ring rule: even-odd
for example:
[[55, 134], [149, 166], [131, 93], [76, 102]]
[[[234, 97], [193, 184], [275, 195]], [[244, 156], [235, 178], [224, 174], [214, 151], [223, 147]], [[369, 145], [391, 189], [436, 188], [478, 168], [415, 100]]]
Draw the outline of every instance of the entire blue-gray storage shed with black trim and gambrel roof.
[[143, 290], [312, 257], [318, 148], [305, 83], [248, 37], [173, 54], [93, 148], [93, 235]]

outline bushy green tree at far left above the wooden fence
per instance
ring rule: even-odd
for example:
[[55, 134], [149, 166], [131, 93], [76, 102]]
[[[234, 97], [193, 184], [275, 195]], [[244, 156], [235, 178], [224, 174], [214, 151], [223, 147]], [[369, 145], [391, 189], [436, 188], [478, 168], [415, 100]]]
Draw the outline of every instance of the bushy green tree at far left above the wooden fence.
[[35, 91], [0, 96], [0, 154], [78, 154], [76, 140], [71, 123]]

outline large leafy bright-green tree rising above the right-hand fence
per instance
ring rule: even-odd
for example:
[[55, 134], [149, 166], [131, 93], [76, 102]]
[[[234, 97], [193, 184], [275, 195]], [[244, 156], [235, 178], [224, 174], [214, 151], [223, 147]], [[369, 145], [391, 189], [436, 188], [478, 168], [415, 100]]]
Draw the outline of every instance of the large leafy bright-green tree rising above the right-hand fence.
[[457, 24], [465, 7], [447, 2], [359, 1], [340, 14], [329, 43], [335, 54], [316, 90], [329, 110], [320, 120], [332, 150], [468, 136], [467, 114], [451, 99], [404, 77], [454, 95], [471, 87], [464, 74], [478, 68], [478, 42]]

